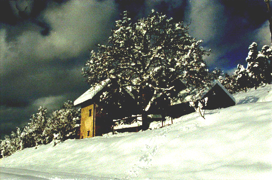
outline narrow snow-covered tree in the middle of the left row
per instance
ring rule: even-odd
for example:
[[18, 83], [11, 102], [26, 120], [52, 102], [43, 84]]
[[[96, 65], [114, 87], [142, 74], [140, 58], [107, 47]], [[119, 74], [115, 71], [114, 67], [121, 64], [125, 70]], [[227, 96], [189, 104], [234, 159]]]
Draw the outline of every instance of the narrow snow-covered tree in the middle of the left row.
[[47, 124], [47, 108], [40, 106], [36, 115], [31, 116], [31, 122], [24, 128], [23, 143], [24, 147], [34, 147], [46, 144], [44, 130]]

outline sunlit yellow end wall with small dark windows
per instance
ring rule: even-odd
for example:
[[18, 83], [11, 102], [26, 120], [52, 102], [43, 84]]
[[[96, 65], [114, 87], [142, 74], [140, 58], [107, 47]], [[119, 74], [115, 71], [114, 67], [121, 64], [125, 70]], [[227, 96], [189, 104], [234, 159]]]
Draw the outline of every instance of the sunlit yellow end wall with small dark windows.
[[[94, 137], [95, 108], [94, 104], [81, 108], [80, 139]], [[90, 114], [91, 110], [91, 114]], [[89, 136], [88, 136], [89, 131]]]

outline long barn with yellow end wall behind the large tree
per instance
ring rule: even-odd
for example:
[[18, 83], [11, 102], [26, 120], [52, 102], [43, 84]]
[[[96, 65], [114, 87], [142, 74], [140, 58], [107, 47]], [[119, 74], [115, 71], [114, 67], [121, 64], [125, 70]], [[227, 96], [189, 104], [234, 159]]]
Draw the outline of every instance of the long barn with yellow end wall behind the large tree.
[[[107, 103], [99, 101], [99, 97], [104, 92], [109, 91], [109, 89], [113, 90], [116, 88], [117, 86], [115, 85], [109, 79], [105, 80], [95, 87], [90, 88], [74, 101], [74, 105], [81, 108], [80, 139], [109, 133], [113, 131], [113, 119], [127, 119], [129, 121], [130, 118], [127, 117], [139, 114], [140, 111], [137, 102], [128, 89], [122, 93], [113, 94]], [[181, 81], [175, 82], [175, 86], [175, 91], [171, 93], [171, 96], [176, 96], [186, 89], [186, 86]], [[186, 94], [186, 96], [190, 96], [190, 93]], [[203, 109], [212, 110], [235, 105], [235, 98], [219, 81], [214, 81], [211, 88], [207, 88], [203, 96], [197, 99], [196, 102], [207, 97], [207, 106]], [[118, 101], [118, 105], [114, 104], [116, 101]], [[102, 109], [104, 111], [101, 111]], [[161, 115], [162, 118], [165, 116], [177, 118], [193, 113], [194, 111], [189, 101], [176, 99], [176, 101], [170, 102], [163, 97], [159, 97], [153, 101], [147, 113], [148, 115]], [[134, 127], [125, 129], [124, 131], [139, 131], [140, 129], [141, 127]], [[123, 132], [123, 130], [119, 131]]]

